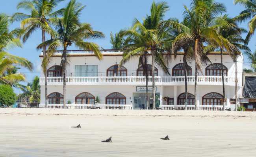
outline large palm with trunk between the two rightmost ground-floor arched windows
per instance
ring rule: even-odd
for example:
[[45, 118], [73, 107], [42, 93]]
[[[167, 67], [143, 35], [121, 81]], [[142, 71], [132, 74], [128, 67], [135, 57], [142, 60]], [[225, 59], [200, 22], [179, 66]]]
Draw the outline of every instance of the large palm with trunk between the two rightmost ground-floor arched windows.
[[[234, 47], [228, 40], [225, 40], [220, 36], [216, 30], [216, 27], [221, 29], [222, 27], [228, 27], [226, 23], [222, 23], [221, 26], [210, 25], [211, 21], [216, 18], [219, 13], [226, 11], [223, 4], [215, 3], [214, 0], [192, 0], [190, 9], [184, 6], [184, 20], [189, 25], [186, 26], [176, 20], [169, 20], [168, 24], [177, 30], [181, 30], [180, 33], [173, 40], [173, 51], [180, 49], [184, 43], [193, 43], [193, 57], [195, 59], [195, 98], [197, 99], [197, 76], [198, 69], [202, 73], [202, 60], [205, 57], [208, 47], [204, 44], [215, 42], [221, 47], [225, 47], [228, 51], [233, 51]], [[195, 101], [195, 108], [198, 109], [198, 103]]]

